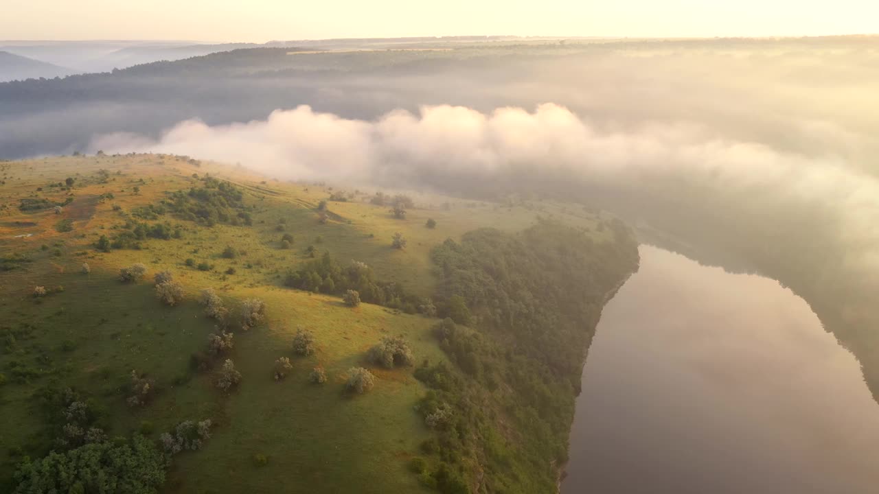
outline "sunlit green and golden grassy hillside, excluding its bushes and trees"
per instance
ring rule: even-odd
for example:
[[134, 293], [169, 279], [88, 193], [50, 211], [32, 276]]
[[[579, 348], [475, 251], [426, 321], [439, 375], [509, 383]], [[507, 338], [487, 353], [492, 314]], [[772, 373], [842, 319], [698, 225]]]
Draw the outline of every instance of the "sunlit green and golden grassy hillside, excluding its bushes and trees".
[[[166, 209], [174, 201], [173, 193], [209, 184], [208, 175], [228, 179], [242, 192], [242, 214], [208, 225], [159, 210], [162, 200]], [[54, 422], [63, 410], [47, 396], [70, 387], [91, 403], [95, 424], [110, 436], [141, 431], [157, 440], [181, 421], [212, 420], [212, 437], [200, 451], [174, 456], [163, 488], [168, 492], [340, 492], [354, 485], [360, 492], [425, 490], [424, 479], [408, 469], [433, 434], [413, 410], [428, 389], [412, 367], [378, 367], [367, 352], [382, 337], [403, 335], [416, 362], [448, 361], [448, 349], [432, 332], [437, 320], [400, 310], [410, 307], [349, 308], [338, 296], [285, 287], [287, 272], [329, 252], [339, 265], [364, 262], [377, 280], [396, 282], [413, 300], [426, 301], [439, 293], [443, 276], [432, 265], [432, 250], [474, 229], [490, 226], [512, 235], [541, 215], [588, 231], [590, 242], [610, 246], [619, 240], [605, 220], [579, 207], [414, 195], [415, 207], [397, 219], [389, 206], [370, 202], [374, 191], [280, 183], [177, 156], [5, 162], [0, 182], [0, 418], [15, 425], [0, 430], [0, 478], [8, 487], [25, 456], [59, 449]], [[322, 207], [331, 196], [345, 201]], [[425, 226], [428, 218], [435, 228]], [[161, 232], [151, 237], [150, 228], [164, 224], [168, 238]], [[136, 238], [138, 229], [148, 234]], [[408, 241], [402, 250], [391, 246], [396, 232]], [[281, 241], [287, 234], [290, 245]], [[122, 248], [101, 251], [96, 245], [102, 236], [127, 240], [117, 245]], [[134, 263], [146, 265], [144, 279], [120, 282], [120, 268]], [[183, 287], [183, 301], [174, 307], [156, 299], [152, 277], [162, 271]], [[47, 295], [34, 296], [35, 287], [45, 287]], [[235, 346], [208, 359], [213, 368], [199, 370], [193, 354], [204, 352], [207, 336], [219, 331], [198, 301], [208, 287], [230, 309]], [[242, 302], [253, 298], [265, 301], [265, 321], [242, 331], [235, 318]], [[316, 352], [309, 356], [293, 352], [299, 328], [315, 337]], [[280, 357], [288, 357], [292, 369], [275, 381], [272, 363]], [[229, 393], [214, 386], [226, 358], [243, 375]], [[318, 366], [327, 374], [323, 386], [309, 382]], [[376, 383], [353, 396], [345, 392], [345, 373], [361, 366]], [[466, 377], [454, 363], [449, 368], [458, 379]], [[155, 382], [146, 406], [127, 405], [133, 370]]]

